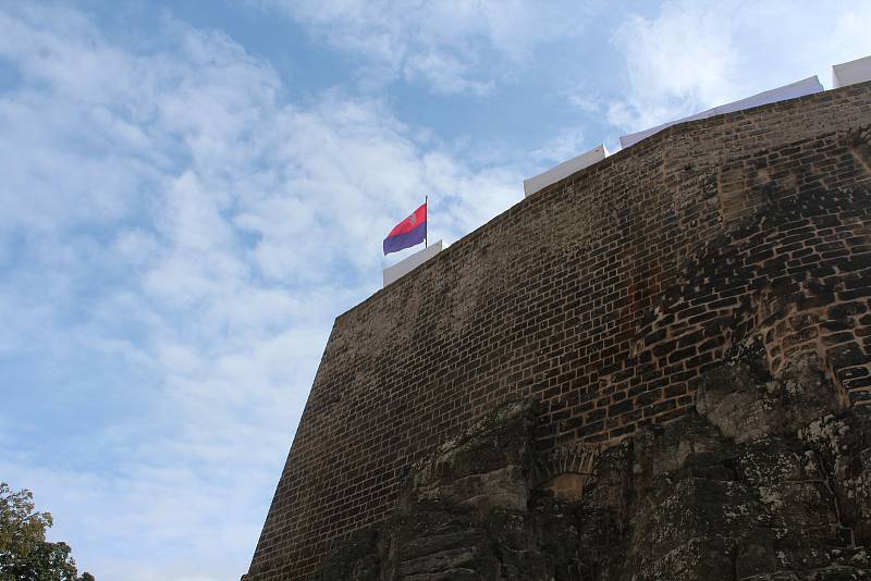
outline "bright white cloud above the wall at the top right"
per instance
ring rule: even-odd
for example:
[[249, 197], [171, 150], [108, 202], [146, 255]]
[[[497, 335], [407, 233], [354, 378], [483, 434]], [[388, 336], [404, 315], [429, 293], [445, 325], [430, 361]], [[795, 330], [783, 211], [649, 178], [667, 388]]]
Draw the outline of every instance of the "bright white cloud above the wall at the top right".
[[813, 74], [829, 84], [832, 64], [871, 53], [868, 22], [868, 2], [665, 2], [613, 35], [625, 94], [601, 107], [639, 131]]

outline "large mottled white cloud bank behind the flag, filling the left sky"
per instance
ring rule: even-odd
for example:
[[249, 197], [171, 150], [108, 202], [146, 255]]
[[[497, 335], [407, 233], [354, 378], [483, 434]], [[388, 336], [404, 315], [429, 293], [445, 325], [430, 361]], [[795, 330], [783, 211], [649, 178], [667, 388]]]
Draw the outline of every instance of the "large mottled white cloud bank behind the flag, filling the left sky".
[[179, 22], [159, 49], [58, 7], [2, 4], [0, 29], [22, 75], [0, 92], [0, 353], [39, 368], [13, 401], [40, 410], [0, 412], [0, 473], [103, 581], [237, 578], [383, 234], [436, 190], [456, 238], [520, 176], [378, 101], [284, 102], [267, 63]]

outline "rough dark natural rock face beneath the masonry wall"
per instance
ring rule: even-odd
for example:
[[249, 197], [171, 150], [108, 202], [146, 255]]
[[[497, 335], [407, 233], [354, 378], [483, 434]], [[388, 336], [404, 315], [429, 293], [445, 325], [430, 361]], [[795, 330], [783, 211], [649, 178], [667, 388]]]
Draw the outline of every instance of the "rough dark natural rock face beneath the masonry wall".
[[540, 481], [536, 403], [506, 404], [315, 579], [871, 580], [871, 421], [813, 354], [776, 378], [752, 363], [709, 372], [698, 413], [597, 453], [578, 494]]

